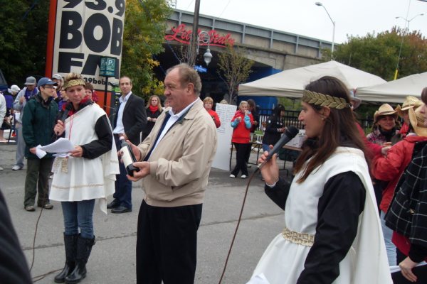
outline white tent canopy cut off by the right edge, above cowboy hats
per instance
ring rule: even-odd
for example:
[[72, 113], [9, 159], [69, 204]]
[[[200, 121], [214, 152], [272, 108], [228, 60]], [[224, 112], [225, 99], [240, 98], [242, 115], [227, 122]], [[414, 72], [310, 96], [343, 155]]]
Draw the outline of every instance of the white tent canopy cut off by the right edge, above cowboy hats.
[[427, 72], [403, 77], [398, 80], [358, 88], [356, 97], [366, 102], [394, 102], [401, 104], [406, 96], [420, 97], [427, 87]]

